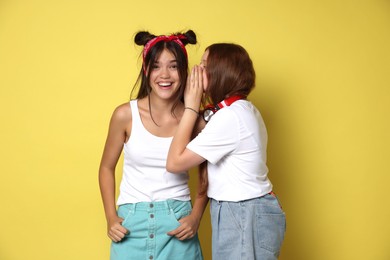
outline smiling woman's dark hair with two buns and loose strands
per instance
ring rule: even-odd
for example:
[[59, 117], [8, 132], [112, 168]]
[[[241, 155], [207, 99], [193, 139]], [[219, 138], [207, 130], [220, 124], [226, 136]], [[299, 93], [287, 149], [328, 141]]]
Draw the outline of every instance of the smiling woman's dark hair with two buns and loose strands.
[[[189, 30], [186, 33], [175, 33], [173, 35], [184, 35], [183, 39], [180, 39], [180, 41], [183, 43], [183, 45], [190, 44], [196, 44], [196, 34]], [[134, 42], [137, 45], [143, 45], [145, 46], [150, 40], [157, 37], [156, 35], [153, 35], [147, 31], [140, 31], [138, 32], [134, 37]], [[145, 60], [143, 61], [144, 64], [142, 64], [141, 71], [138, 75], [138, 79], [133, 87], [133, 90], [131, 91], [131, 94], [133, 93], [136, 86], [139, 85], [139, 90], [137, 94], [137, 98], [144, 98], [146, 96], [149, 96], [151, 91], [150, 86], [150, 73], [151, 69], [150, 66], [155, 63], [155, 61], [158, 59], [158, 57], [161, 55], [163, 50], [170, 51], [176, 58], [177, 61], [177, 67], [178, 67], [178, 74], [180, 79], [180, 85], [179, 89], [175, 98], [175, 103], [172, 107], [172, 114], [174, 115], [174, 110], [176, 106], [179, 104], [180, 101], [183, 101], [183, 93], [187, 82], [187, 76], [188, 76], [188, 58], [187, 55], [183, 52], [183, 49], [180, 47], [180, 45], [174, 41], [159, 41], [157, 42], [147, 53]], [[141, 52], [142, 55], [142, 52]], [[145, 70], [144, 70], [145, 69]], [[150, 100], [149, 100], [149, 110], [150, 110]], [[151, 112], [150, 112], [151, 113]], [[152, 116], [152, 115], [151, 115]], [[153, 120], [153, 117], [152, 117]], [[154, 121], [154, 120], [153, 120]]]

